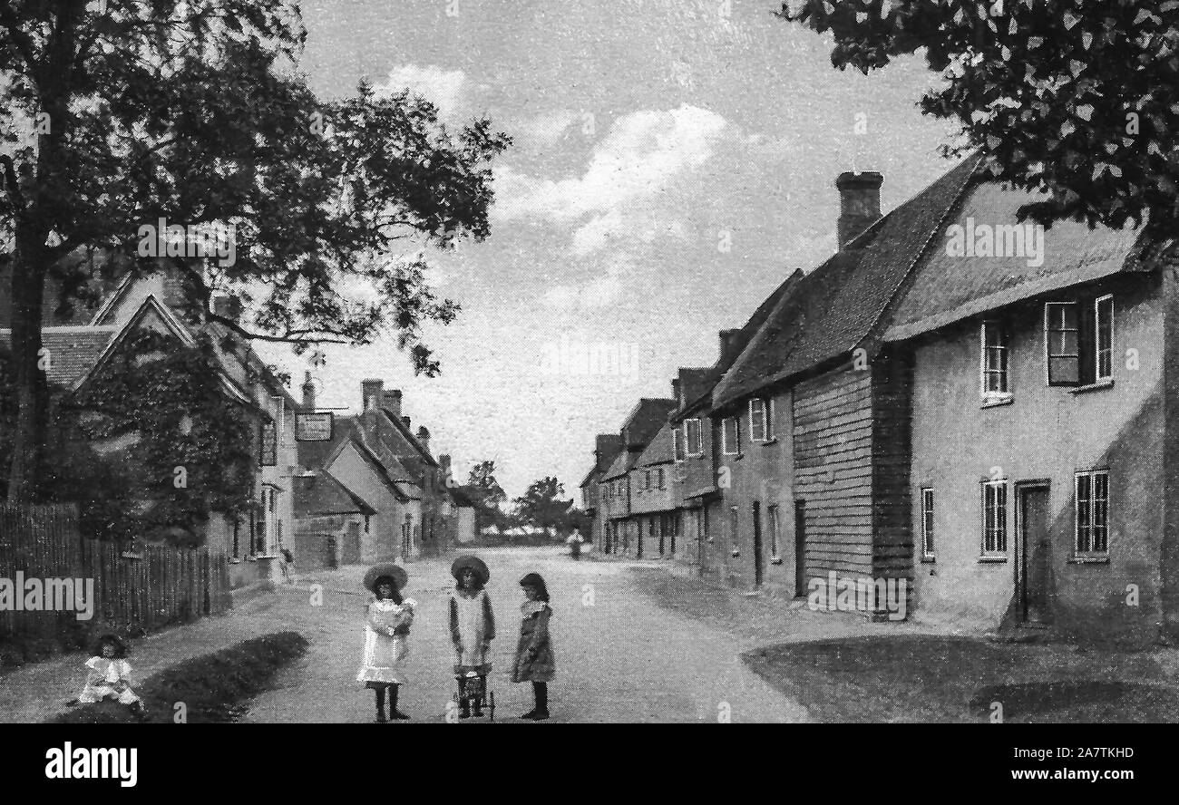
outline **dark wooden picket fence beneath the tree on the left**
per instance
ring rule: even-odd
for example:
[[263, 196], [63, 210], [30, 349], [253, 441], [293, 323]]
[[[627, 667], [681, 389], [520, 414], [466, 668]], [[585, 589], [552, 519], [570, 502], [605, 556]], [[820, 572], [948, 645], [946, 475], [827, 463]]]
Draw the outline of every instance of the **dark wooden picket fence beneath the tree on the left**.
[[[83, 539], [72, 506], [0, 506], [0, 578], [93, 579], [94, 625], [152, 632], [231, 606], [229, 561], [204, 548], [126, 546]], [[53, 638], [79, 628], [74, 612], [0, 609], [0, 640]]]

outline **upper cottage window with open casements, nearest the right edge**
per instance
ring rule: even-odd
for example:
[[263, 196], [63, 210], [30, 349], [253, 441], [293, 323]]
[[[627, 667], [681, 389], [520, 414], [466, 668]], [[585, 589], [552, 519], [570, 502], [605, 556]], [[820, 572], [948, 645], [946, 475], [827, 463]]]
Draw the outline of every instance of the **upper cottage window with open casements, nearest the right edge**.
[[1113, 297], [1048, 302], [1043, 308], [1048, 385], [1088, 385], [1113, 378]]

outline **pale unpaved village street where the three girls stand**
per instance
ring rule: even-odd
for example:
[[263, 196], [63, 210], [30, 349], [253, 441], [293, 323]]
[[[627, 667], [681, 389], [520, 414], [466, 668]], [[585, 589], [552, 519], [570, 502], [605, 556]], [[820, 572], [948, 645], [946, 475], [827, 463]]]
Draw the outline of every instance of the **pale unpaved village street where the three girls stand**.
[[[488, 687], [495, 693], [496, 721], [519, 721], [516, 717], [532, 706], [531, 686], [513, 685], [507, 678], [522, 600], [518, 581], [531, 570], [545, 576], [554, 613], [558, 673], [549, 685], [552, 720], [717, 721], [726, 707], [735, 722], [806, 720], [799, 705], [742, 664], [738, 654], [747, 646], [735, 635], [664, 609], [638, 592], [628, 568], [666, 562], [574, 562], [555, 548], [481, 549], [479, 555], [492, 570], [487, 589], [498, 636]], [[324, 587], [322, 607], [311, 607], [305, 592], [281, 590], [291, 615], [305, 623], [298, 628], [311, 647], [281, 673], [275, 689], [252, 702], [243, 721], [374, 720], [371, 691], [354, 681], [367, 601], [360, 585], [363, 570], [349, 567], [315, 576]], [[414, 562], [409, 573], [406, 594], [419, 601], [420, 614], [410, 635], [413, 677], [402, 688], [400, 706], [414, 721], [444, 721], [454, 691], [446, 606], [454, 583], [449, 560]], [[309, 581], [301, 579], [299, 587]], [[276, 629], [282, 627], [275, 623]]]

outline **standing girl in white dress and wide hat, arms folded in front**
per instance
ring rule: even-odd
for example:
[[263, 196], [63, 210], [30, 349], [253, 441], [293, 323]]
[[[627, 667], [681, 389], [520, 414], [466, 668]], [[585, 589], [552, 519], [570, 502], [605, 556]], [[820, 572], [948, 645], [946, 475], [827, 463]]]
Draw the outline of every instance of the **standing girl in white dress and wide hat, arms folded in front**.
[[397, 694], [407, 681], [402, 662], [409, 654], [409, 625], [417, 602], [402, 599], [401, 589], [409, 580], [399, 565], [377, 565], [364, 575], [364, 586], [376, 595], [368, 605], [364, 621], [364, 659], [356, 680], [364, 682], [376, 697], [376, 720], [386, 721], [384, 699], [389, 694], [389, 720], [409, 717], [397, 710]]

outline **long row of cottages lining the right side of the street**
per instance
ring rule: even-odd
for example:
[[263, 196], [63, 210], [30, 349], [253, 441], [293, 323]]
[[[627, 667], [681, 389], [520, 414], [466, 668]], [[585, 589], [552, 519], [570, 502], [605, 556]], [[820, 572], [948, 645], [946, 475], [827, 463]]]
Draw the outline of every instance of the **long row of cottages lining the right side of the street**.
[[1175, 240], [1017, 223], [979, 154], [884, 216], [882, 182], [842, 174], [838, 251], [597, 437], [594, 541], [791, 596], [893, 585], [968, 632], [1173, 631]]

